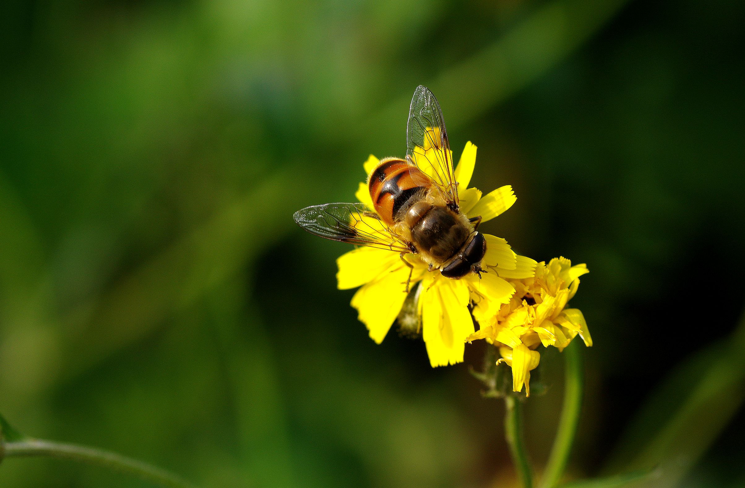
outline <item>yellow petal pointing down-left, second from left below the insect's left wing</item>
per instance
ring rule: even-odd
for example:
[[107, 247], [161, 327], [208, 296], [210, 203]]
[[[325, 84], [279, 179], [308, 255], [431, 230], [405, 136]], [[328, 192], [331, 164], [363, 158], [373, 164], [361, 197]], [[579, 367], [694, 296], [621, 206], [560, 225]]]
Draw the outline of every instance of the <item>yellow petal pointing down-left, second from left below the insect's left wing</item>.
[[406, 266], [384, 272], [374, 281], [357, 290], [352, 297], [352, 307], [358, 319], [367, 326], [370, 338], [380, 344], [388, 333], [406, 299], [405, 283], [409, 269]]

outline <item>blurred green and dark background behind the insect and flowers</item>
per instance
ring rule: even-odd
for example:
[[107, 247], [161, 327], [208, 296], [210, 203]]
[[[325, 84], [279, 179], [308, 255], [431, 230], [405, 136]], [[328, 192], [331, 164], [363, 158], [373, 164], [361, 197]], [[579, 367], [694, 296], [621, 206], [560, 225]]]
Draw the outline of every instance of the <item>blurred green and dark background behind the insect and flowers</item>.
[[[745, 4], [101, 0], [0, 7], [0, 412], [204, 487], [510, 487], [502, 407], [375, 345], [294, 210], [405, 152], [417, 84], [485, 230], [587, 263], [570, 475], [745, 486]], [[545, 463], [562, 358], [531, 398]], [[9, 459], [4, 487], [145, 487]]]

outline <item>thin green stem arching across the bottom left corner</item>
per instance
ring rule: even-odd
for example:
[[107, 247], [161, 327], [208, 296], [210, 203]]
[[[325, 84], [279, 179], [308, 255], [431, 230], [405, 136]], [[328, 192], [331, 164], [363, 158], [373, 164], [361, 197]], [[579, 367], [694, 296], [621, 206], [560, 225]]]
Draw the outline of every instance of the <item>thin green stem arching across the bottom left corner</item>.
[[3, 447], [4, 457], [58, 457], [139, 476], [139, 478], [164, 487], [191, 488], [192, 486], [186, 481], [182, 481], [162, 469], [142, 463], [142, 461], [83, 445], [60, 444], [40, 439], [22, 439], [16, 442], [4, 442]]

